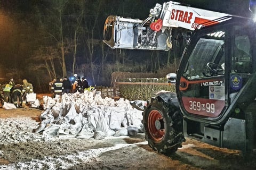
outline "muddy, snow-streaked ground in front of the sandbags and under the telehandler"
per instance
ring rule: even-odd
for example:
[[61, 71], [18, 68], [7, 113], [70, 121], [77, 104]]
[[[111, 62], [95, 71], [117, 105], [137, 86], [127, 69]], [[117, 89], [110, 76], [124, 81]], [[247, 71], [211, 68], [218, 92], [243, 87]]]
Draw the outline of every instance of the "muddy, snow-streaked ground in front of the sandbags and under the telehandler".
[[[147, 145], [144, 133], [103, 140], [41, 137], [32, 132], [41, 112], [35, 108], [0, 108], [0, 129], [7, 131], [0, 140], [10, 138], [0, 145], [0, 169], [256, 169], [255, 155], [244, 158], [241, 151], [190, 138], [175, 154], [165, 156]], [[21, 122], [14, 125], [16, 120]], [[12, 142], [20, 134], [15, 129], [29, 138]]]

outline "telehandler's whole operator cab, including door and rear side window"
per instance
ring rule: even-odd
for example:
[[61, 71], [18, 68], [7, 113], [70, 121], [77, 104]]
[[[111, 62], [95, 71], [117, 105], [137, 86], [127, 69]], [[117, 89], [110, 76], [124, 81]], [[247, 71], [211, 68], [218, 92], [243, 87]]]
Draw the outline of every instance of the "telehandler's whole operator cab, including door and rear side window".
[[194, 35], [177, 75], [177, 95], [185, 117], [220, 123], [231, 113], [229, 106], [245, 103], [238, 99], [242, 94], [250, 102], [255, 98], [252, 92], [242, 91], [252, 86], [249, 80], [255, 75], [254, 30], [237, 22]]

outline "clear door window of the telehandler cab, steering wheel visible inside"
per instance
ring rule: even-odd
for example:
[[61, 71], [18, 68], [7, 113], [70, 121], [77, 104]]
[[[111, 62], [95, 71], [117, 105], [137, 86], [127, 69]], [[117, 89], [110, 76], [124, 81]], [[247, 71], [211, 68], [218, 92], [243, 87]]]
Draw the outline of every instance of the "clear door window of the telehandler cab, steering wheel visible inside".
[[224, 74], [224, 35], [223, 31], [218, 31], [209, 33], [198, 40], [189, 57], [184, 77], [191, 80]]

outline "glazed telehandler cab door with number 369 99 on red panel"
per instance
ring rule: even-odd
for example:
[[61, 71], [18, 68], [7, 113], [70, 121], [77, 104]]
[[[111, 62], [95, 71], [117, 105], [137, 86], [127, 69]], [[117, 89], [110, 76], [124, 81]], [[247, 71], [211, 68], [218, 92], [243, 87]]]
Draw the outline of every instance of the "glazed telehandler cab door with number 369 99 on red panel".
[[179, 70], [180, 105], [184, 115], [214, 120], [226, 107], [225, 30], [203, 33], [196, 40]]

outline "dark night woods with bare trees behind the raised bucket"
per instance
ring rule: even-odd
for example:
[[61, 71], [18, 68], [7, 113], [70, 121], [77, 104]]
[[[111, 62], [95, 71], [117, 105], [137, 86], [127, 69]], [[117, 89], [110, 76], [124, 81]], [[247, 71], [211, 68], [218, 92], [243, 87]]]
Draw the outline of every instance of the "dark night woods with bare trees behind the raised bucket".
[[[182, 54], [182, 35], [170, 52], [110, 49], [102, 43], [108, 15], [145, 19], [150, 8], [163, 2], [1, 0], [0, 83], [11, 77], [21, 83], [26, 78], [36, 92], [42, 92], [53, 78], [74, 73], [84, 76], [92, 86], [109, 86], [114, 71], [156, 73], [170, 69]], [[176, 2], [252, 17], [249, 0]]]

